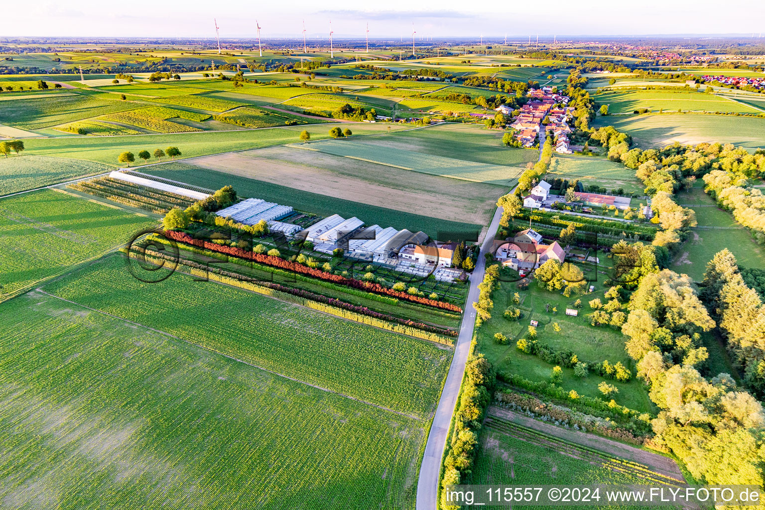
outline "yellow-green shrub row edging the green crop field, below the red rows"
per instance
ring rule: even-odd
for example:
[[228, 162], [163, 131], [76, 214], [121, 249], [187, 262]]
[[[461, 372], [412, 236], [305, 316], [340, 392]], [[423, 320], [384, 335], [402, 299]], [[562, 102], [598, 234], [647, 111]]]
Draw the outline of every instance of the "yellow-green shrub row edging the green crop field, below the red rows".
[[[135, 258], [138, 254], [132, 252], [129, 255]], [[152, 261], [152, 259], [153, 261], [177, 260], [174, 257], [152, 250], [145, 250], [145, 254], [141, 255], [148, 259], [148, 261]], [[181, 259], [178, 260], [178, 263], [190, 268], [190, 273], [194, 274], [194, 276], [210, 278], [211, 280], [232, 285], [233, 287], [243, 288], [247, 291], [257, 292], [258, 294], [278, 297], [280, 300], [300, 304], [301, 306], [313, 310], [330, 313], [337, 317], [343, 317], [369, 326], [376, 326], [384, 330], [415, 336], [416, 338], [430, 340], [431, 342], [444, 343], [450, 346], [453, 345], [451, 339], [441, 335], [457, 336], [457, 332], [453, 330], [445, 330], [444, 328], [439, 328], [437, 326], [430, 326], [428, 324], [417, 323], [413, 320], [393, 317], [386, 313], [379, 313], [374, 310], [369, 310], [369, 308], [366, 307], [356, 306], [332, 297], [322, 296], [321, 294], [314, 294], [313, 292], [303, 291], [301, 289], [285, 287], [280, 284], [258, 281], [255, 278], [247, 278], [241, 274], [223, 271], [219, 268], [207, 268], [194, 261]]]

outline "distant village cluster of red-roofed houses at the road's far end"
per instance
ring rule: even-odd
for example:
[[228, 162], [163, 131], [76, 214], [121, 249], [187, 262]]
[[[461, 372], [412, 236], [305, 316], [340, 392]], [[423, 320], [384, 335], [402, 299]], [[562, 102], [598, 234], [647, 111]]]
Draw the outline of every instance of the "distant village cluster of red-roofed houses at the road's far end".
[[[532, 147], [537, 138], [539, 130], [542, 129], [542, 121], [545, 118], [549, 123], [545, 125], [545, 131], [549, 135], [558, 137], [558, 143], [555, 150], [565, 154], [571, 154], [568, 148], [568, 134], [571, 128], [568, 127], [568, 119], [574, 108], [566, 106], [568, 96], [552, 92], [552, 87], [542, 87], [541, 89], [529, 90], [529, 102], [521, 107], [521, 111], [516, 116], [511, 128], [516, 130], [515, 138], [523, 147]], [[562, 105], [562, 106], [555, 106]], [[500, 108], [497, 111], [501, 111]], [[504, 113], [504, 112], [503, 112]]]

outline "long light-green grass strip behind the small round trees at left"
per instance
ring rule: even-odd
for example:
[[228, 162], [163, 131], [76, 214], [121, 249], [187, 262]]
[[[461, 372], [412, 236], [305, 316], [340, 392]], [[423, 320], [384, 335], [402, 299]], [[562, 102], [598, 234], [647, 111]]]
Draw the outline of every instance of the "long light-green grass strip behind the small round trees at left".
[[[369, 135], [387, 131], [382, 124], [343, 124], [350, 127], [355, 135]], [[331, 125], [286, 126], [239, 132], [197, 132], [170, 135], [141, 135], [132, 137], [83, 137], [83, 138], [37, 138], [24, 141], [26, 154], [58, 156], [95, 161], [103, 164], [117, 164], [122, 151], [138, 154], [144, 149], [166, 148], [175, 145], [181, 149], [184, 158], [206, 156], [219, 152], [281, 145], [299, 141], [302, 130], [308, 130], [311, 138], [330, 138]], [[391, 126], [391, 130], [411, 128], [407, 125]], [[152, 161], [154, 162], [154, 161]], [[140, 162], [138, 162], [140, 163]]]

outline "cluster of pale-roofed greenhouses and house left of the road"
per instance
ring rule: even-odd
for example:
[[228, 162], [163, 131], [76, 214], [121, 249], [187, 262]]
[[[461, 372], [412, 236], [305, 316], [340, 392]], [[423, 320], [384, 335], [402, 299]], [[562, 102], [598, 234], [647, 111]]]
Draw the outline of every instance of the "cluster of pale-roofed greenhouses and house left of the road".
[[[279, 221], [293, 213], [292, 207], [266, 202], [259, 198], [248, 198], [216, 214], [231, 217], [239, 223], [254, 225], [265, 220], [272, 231], [285, 234], [290, 239], [302, 239], [313, 243], [317, 252], [332, 253], [342, 248], [347, 257], [364, 261], [376, 261], [392, 265], [402, 271], [410, 271], [412, 265], [428, 268], [451, 268], [455, 242], [428, 242], [425, 232], [411, 232], [379, 225], [364, 226], [364, 222], [353, 216], [345, 219], [339, 214], [327, 216], [308, 227]], [[460, 272], [460, 271], [457, 271]], [[454, 274], [449, 274], [454, 278]], [[436, 275], [438, 278], [438, 274]]]

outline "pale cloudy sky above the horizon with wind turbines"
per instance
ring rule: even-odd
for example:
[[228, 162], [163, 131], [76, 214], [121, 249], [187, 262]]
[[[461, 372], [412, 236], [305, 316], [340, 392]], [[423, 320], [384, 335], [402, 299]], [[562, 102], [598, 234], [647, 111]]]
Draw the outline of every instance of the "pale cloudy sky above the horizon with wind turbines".
[[[365, 3], [369, 8], [365, 7]], [[220, 6], [220, 7], [218, 7]], [[12, 8], [3, 37], [490, 37], [526, 39], [584, 35], [755, 34], [763, 32], [763, 0], [484, 0], [483, 2], [252, 2], [252, 0], [132, 0], [30, 2]], [[548, 14], [549, 13], [549, 14]], [[765, 41], [765, 40], [763, 40]]]

